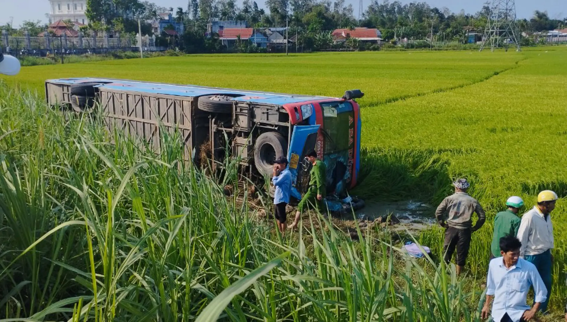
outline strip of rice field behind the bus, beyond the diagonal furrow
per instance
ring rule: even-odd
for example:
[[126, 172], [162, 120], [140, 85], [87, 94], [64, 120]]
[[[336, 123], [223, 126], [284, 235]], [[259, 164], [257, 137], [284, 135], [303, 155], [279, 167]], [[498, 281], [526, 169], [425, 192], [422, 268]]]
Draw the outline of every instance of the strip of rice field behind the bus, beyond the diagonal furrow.
[[5, 79], [40, 93], [45, 79], [77, 76], [332, 97], [359, 88], [365, 92], [362, 105], [374, 106], [476, 83], [523, 58], [521, 53], [476, 51], [185, 55], [32, 66]]

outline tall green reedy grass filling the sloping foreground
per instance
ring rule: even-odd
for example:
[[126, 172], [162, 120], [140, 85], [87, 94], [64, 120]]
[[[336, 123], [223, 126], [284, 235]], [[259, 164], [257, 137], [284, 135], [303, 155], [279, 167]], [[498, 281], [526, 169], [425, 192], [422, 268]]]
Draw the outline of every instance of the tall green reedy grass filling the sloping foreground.
[[224, 182], [202, 175], [181, 161], [179, 136], [159, 156], [119, 132], [109, 144], [97, 115], [2, 84], [0, 129], [6, 319], [187, 321], [221, 303], [226, 321], [477, 320], [453, 269], [378, 231], [353, 242], [312, 216], [282, 237], [249, 208], [234, 164]]

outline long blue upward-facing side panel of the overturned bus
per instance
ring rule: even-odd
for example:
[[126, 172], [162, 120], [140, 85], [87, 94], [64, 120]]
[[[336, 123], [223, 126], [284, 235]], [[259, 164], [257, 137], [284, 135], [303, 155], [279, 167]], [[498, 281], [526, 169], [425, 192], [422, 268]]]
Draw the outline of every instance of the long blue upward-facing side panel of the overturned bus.
[[154, 93], [175, 96], [205, 96], [215, 94], [238, 94], [243, 95], [232, 98], [235, 101], [255, 102], [259, 104], [284, 105], [290, 103], [331, 100], [336, 101], [340, 98], [325, 96], [293, 95], [284, 93], [246, 91], [229, 88], [206, 87], [197, 85], [178, 85], [165, 83], [152, 83], [141, 80], [124, 80], [111, 78], [60, 78], [49, 79], [49, 83], [56, 84], [77, 84], [85, 81], [109, 81], [111, 83], [99, 85], [101, 88], [114, 89], [119, 91], [133, 91], [142, 93]]

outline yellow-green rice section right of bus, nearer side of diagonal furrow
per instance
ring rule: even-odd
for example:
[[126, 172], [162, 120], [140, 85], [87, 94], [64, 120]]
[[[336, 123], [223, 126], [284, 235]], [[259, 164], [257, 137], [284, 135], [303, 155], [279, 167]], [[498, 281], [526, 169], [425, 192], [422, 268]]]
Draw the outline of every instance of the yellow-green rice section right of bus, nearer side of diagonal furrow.
[[[518, 67], [481, 83], [382, 105], [380, 113], [363, 114], [368, 132], [362, 134], [362, 145], [366, 148], [437, 151], [431, 157], [445, 160], [449, 178], [472, 181], [471, 194], [487, 211], [485, 226], [473, 234], [470, 255], [469, 268], [480, 281], [488, 264], [492, 219], [505, 208], [507, 197], [522, 196], [526, 207], [533, 207], [536, 195], [544, 189], [565, 197], [565, 173], [560, 165], [567, 161], [567, 51], [558, 48], [524, 54], [527, 59]], [[373, 135], [378, 132], [381, 135]], [[567, 297], [564, 217], [565, 205], [560, 200], [552, 213], [556, 261], [551, 297], [553, 306], [560, 308]], [[441, 230], [426, 232], [422, 241], [440, 251]]]

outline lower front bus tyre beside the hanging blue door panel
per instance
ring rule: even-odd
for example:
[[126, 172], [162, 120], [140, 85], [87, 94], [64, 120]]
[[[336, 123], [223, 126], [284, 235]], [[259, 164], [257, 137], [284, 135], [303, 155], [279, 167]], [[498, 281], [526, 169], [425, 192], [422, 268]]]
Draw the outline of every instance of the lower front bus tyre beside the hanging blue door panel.
[[264, 132], [256, 139], [254, 164], [261, 175], [272, 177], [274, 161], [286, 154], [287, 140], [278, 132]]

